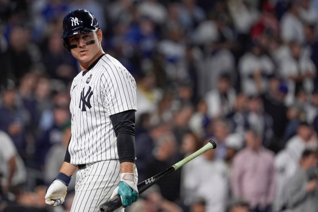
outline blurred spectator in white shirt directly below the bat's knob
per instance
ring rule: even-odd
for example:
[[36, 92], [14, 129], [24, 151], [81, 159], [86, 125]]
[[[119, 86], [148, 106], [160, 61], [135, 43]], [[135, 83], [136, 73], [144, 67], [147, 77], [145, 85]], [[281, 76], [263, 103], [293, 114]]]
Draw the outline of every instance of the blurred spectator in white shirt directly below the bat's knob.
[[225, 211], [229, 188], [227, 167], [223, 160], [215, 156], [215, 150], [206, 151], [191, 163], [184, 165], [182, 190], [183, 203], [186, 206], [192, 205], [196, 197], [204, 197], [206, 211]]

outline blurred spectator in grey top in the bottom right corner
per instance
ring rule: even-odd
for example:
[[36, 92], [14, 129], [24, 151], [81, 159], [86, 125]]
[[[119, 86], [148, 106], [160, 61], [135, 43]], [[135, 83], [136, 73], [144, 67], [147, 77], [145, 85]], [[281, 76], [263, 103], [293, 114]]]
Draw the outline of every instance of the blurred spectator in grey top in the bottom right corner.
[[317, 178], [308, 176], [308, 169], [317, 166], [317, 153], [304, 150], [295, 174], [288, 182], [287, 208], [292, 211], [317, 211], [318, 210], [318, 185]]

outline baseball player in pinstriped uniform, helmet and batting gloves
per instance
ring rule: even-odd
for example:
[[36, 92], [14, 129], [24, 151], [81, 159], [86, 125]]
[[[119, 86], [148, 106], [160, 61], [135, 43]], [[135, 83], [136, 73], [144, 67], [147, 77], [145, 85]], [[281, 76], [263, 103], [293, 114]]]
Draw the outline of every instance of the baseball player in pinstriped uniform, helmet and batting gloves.
[[62, 204], [71, 176], [78, 170], [72, 212], [99, 211], [101, 203], [116, 195], [127, 207], [138, 198], [135, 80], [120, 62], [105, 54], [102, 30], [88, 10], [65, 16], [62, 40], [83, 71], [71, 85], [72, 135], [45, 201], [52, 206]]

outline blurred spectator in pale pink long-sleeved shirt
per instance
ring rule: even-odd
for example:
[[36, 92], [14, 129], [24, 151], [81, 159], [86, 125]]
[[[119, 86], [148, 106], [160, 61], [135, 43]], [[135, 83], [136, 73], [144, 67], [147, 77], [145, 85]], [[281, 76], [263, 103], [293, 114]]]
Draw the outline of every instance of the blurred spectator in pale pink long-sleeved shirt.
[[262, 146], [262, 138], [253, 130], [246, 131], [245, 144], [234, 157], [232, 195], [246, 200], [255, 212], [270, 212], [275, 192], [274, 153]]

